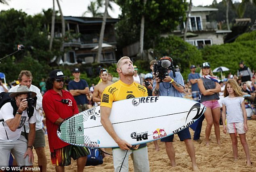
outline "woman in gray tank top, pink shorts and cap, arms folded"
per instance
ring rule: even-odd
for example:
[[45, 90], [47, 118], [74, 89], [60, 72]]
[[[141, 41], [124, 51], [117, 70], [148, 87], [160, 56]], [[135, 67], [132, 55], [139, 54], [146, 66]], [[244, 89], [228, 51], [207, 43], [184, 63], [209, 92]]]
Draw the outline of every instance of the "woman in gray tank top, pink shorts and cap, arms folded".
[[220, 92], [220, 84], [216, 77], [213, 76], [210, 63], [202, 64], [200, 71], [202, 77], [197, 81], [201, 103], [206, 107], [204, 116], [206, 117], [206, 145], [209, 145], [212, 124], [214, 124], [214, 132], [217, 143], [220, 144], [220, 105], [218, 103]]

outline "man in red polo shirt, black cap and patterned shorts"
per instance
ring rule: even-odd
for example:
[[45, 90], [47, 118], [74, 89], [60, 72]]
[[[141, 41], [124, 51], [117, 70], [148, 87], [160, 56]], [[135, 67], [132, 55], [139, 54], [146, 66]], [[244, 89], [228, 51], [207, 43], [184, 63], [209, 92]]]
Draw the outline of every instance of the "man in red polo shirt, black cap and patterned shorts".
[[73, 96], [63, 90], [63, 72], [55, 69], [50, 72], [50, 77], [46, 81], [46, 93], [43, 97], [43, 109], [46, 115], [46, 126], [48, 131], [48, 142], [51, 152], [52, 164], [55, 164], [57, 172], [63, 172], [64, 166], [71, 164], [71, 157], [76, 160], [78, 172], [84, 170], [88, 148], [78, 147], [65, 143], [57, 136], [59, 124], [67, 117], [78, 113], [78, 107]]

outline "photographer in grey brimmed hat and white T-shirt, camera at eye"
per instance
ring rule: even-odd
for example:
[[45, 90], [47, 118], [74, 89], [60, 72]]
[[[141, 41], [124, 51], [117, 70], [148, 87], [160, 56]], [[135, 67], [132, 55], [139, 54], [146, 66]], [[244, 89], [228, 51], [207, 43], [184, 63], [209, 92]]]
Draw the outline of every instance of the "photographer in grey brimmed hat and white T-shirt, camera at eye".
[[[13, 101], [5, 103], [0, 109], [0, 119], [3, 119], [0, 125], [0, 166], [8, 166], [10, 152], [14, 155], [18, 166], [33, 165], [32, 145], [36, 132], [36, 115], [34, 111], [34, 114], [28, 117], [29, 92], [27, 86], [19, 86], [16, 92], [10, 94]], [[34, 98], [36, 92], [31, 93], [31, 97]], [[29, 122], [28, 141], [21, 136], [25, 122]]]

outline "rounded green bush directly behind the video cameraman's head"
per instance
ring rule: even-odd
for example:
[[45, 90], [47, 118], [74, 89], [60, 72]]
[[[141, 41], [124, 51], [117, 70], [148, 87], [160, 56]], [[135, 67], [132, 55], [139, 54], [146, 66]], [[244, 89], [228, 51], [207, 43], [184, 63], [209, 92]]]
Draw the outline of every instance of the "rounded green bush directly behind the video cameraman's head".
[[178, 65], [186, 79], [190, 73], [191, 65], [202, 63], [202, 55], [197, 48], [177, 36], [168, 36], [159, 38], [155, 46], [155, 55], [160, 59], [163, 56], [169, 56], [174, 61], [174, 66]]

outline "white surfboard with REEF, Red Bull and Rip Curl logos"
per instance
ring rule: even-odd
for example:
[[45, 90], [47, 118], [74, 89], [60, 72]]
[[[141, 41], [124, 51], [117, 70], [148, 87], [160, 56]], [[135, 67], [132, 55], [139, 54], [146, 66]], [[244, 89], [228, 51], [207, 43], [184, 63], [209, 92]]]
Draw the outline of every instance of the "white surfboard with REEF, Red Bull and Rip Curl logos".
[[[148, 96], [114, 102], [109, 119], [121, 139], [138, 145], [187, 128], [205, 109], [204, 105], [190, 99]], [[100, 107], [94, 107], [65, 120], [57, 135], [72, 145], [118, 147], [100, 121]]]

